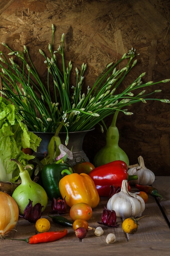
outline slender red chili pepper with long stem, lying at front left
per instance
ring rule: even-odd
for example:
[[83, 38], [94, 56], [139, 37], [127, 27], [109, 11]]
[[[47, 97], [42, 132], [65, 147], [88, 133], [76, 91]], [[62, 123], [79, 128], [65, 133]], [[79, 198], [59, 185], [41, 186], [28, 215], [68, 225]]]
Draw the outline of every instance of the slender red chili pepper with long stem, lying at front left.
[[3, 238], [10, 239], [10, 240], [25, 241], [26, 243], [29, 243], [29, 244], [38, 244], [38, 243], [48, 243], [48, 242], [59, 240], [64, 236], [66, 236], [66, 234], [67, 234], [67, 229], [63, 229], [60, 231], [50, 231], [50, 232], [39, 233], [34, 236], [30, 236], [29, 238], [26, 238], [26, 239], [15, 239], [15, 238], [7, 238], [7, 237], [3, 237]]

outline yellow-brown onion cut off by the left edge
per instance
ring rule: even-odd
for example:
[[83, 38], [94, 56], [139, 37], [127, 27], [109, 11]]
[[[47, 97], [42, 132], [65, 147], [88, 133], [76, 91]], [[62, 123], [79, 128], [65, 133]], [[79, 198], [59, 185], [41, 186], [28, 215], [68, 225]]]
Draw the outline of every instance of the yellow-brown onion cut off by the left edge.
[[7, 193], [0, 192], [0, 237], [12, 230], [19, 217], [15, 200]]

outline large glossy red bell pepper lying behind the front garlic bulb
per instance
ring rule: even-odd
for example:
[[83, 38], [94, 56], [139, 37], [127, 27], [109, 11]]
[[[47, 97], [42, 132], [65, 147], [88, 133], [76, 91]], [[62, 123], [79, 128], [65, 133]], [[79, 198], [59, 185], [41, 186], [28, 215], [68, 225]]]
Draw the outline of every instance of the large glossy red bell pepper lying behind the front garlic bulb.
[[[89, 173], [89, 176], [93, 179], [99, 196], [108, 197], [111, 185], [121, 188], [122, 180], [137, 179], [137, 175], [128, 175], [127, 171], [127, 164], [124, 161], [116, 160], [96, 167]], [[133, 177], [130, 178], [130, 176]], [[129, 185], [128, 190], [130, 191]]]

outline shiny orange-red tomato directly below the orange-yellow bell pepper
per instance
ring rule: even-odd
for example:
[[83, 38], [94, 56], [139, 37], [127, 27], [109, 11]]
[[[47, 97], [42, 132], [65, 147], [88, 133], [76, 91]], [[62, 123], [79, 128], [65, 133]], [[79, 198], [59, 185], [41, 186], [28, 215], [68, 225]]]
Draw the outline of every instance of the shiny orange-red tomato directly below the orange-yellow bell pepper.
[[70, 217], [72, 220], [89, 220], [92, 217], [92, 208], [86, 203], [73, 204], [70, 208]]

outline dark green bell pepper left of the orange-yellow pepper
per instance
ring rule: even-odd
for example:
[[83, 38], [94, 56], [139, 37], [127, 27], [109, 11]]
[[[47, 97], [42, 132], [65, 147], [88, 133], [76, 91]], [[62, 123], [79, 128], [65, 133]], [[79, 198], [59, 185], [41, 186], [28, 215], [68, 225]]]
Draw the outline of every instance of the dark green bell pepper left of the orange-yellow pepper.
[[67, 173], [61, 174], [63, 170], [71, 170], [71, 165], [64, 163], [63, 161], [57, 161], [52, 164], [46, 164], [41, 171], [42, 186], [44, 187], [50, 200], [53, 198], [61, 198], [59, 190], [59, 181], [67, 175]]

